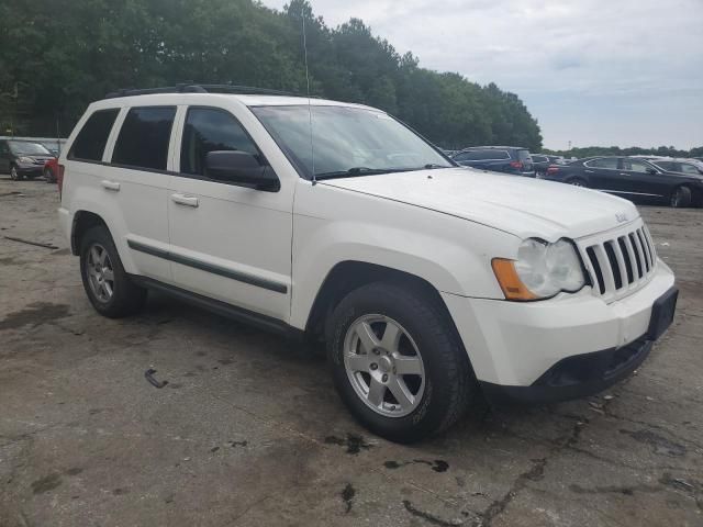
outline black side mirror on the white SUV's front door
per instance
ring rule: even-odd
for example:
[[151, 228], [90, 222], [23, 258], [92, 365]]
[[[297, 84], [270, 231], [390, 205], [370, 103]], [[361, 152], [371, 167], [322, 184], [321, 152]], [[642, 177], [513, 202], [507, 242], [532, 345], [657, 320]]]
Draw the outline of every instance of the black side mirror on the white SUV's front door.
[[276, 192], [280, 182], [271, 167], [242, 150], [213, 150], [205, 155], [205, 176], [217, 181]]

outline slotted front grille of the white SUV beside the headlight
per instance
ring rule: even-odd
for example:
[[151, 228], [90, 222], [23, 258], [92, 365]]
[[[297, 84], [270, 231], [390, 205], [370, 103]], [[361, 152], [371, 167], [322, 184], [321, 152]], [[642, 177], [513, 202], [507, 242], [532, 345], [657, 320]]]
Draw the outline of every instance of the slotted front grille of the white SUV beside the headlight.
[[638, 226], [603, 237], [580, 242], [593, 291], [620, 298], [647, 282], [657, 265], [655, 245], [647, 226]]

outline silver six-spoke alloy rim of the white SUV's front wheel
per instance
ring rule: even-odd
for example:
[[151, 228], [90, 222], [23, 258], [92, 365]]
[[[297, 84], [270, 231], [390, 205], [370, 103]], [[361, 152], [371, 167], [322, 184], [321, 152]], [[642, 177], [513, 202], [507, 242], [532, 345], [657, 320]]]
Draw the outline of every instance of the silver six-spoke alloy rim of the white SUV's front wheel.
[[349, 326], [344, 367], [356, 394], [380, 415], [403, 417], [422, 401], [426, 375], [420, 349], [388, 316], [364, 315]]

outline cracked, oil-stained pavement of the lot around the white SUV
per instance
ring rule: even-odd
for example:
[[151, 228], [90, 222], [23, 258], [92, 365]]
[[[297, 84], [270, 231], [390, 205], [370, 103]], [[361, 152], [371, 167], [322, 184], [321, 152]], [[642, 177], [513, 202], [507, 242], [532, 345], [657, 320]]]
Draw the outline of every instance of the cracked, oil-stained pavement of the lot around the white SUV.
[[703, 525], [703, 210], [641, 208], [681, 292], [636, 374], [400, 446], [292, 343], [157, 294], [99, 316], [57, 204], [0, 176], [2, 527]]

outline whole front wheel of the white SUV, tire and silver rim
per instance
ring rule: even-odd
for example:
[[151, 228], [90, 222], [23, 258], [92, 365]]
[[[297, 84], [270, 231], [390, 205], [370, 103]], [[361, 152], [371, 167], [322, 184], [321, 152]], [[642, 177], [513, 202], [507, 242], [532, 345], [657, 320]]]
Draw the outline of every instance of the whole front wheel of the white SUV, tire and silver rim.
[[[397, 345], [382, 338], [391, 326], [400, 335]], [[378, 348], [368, 339], [364, 345], [359, 335], [365, 327], [373, 332]], [[444, 431], [477, 393], [451, 319], [419, 289], [375, 282], [352, 291], [332, 313], [325, 333], [327, 360], [342, 401], [357, 421], [389, 440], [413, 442]], [[420, 374], [399, 373], [403, 368]], [[395, 397], [399, 386], [412, 397]]]

